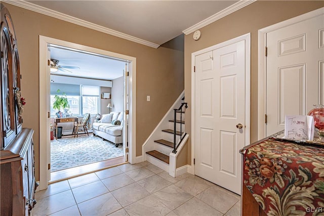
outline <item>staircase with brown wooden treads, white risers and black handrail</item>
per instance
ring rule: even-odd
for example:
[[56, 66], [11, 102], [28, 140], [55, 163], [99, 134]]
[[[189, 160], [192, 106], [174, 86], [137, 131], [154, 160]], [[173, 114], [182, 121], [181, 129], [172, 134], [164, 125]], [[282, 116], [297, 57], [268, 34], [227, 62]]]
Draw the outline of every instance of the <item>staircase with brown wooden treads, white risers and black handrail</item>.
[[176, 153], [185, 136], [184, 97], [178, 99], [143, 145], [144, 160], [169, 172], [170, 154]]

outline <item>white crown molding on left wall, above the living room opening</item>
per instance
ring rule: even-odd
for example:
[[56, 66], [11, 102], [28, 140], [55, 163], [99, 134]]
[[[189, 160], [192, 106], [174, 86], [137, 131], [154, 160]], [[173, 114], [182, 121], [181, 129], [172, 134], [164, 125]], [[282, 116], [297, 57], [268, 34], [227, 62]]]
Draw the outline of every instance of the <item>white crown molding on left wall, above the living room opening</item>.
[[66, 14], [63, 14], [63, 13], [60, 13], [60, 12], [57, 12], [57, 11], [54, 11], [54, 10], [51, 10], [51, 9], [48, 9], [48, 8], [45, 8], [45, 7], [42, 7], [42, 6], [38, 6], [38, 5], [35, 5], [35, 4], [32, 4], [32, 3], [26, 2], [26, 1], [2, 0], [2, 2], [8, 3], [10, 5], [17, 6], [17, 7], [20, 7], [20, 8], [24, 8], [24, 9], [27, 9], [27, 10], [30, 10], [30, 11], [34, 11], [34, 12], [37, 12], [37, 13], [40, 13], [40, 14], [44, 14], [44, 15], [47, 15], [47, 16], [50, 16], [50, 17], [54, 17], [54, 18], [57, 18], [57, 19], [60, 19], [60, 20], [64, 20], [66, 22], [70, 22], [70, 23], [73, 23], [73, 24], [76, 24], [76, 25], [80, 25], [80, 26], [83, 26], [83, 27], [86, 27], [86, 28], [94, 29], [96, 31], [100, 31], [100, 32], [103, 32], [103, 33], [106, 33], [106, 34], [116, 36], [116, 37], [127, 39], [127, 40], [130, 40], [130, 41], [133, 41], [133, 42], [136, 42], [138, 44], [142, 44], [142, 45], [145, 45], [145, 46], [148, 46], [148, 47], [151, 47], [151, 48], [156, 49], [156, 48], [159, 47], [159, 45], [154, 44], [153, 42], [149, 42], [147, 40], [143, 40], [143, 39], [138, 38], [138, 37], [134, 37], [134, 36], [119, 32], [119, 31], [115, 31], [115, 30], [112, 30], [110, 28], [106, 28], [106, 27], [103, 27], [103, 26], [100, 26], [100, 25], [97, 25], [97, 24], [94, 24], [94, 23], [91, 23], [91, 22], [88, 22], [88, 21], [85, 21], [85, 20], [82, 20], [82, 19], [78, 19], [78, 18], [69, 16], [69, 15], [66, 15]]

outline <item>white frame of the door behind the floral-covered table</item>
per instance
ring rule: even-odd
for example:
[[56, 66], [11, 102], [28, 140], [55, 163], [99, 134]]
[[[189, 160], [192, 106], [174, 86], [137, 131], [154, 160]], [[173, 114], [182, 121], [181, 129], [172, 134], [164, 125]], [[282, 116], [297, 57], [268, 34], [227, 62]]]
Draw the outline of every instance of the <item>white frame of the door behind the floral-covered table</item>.
[[319, 8], [317, 10], [308, 12], [306, 14], [291, 18], [289, 20], [285, 20], [274, 25], [270, 25], [268, 27], [262, 28], [259, 30], [258, 37], [258, 140], [265, 138], [266, 136], [266, 124], [265, 124], [265, 114], [266, 114], [266, 57], [265, 53], [265, 44], [266, 44], [266, 35], [271, 31], [275, 31], [277, 29], [293, 25], [298, 22], [302, 22], [313, 17], [317, 17], [319, 15], [324, 14], [324, 7]]

